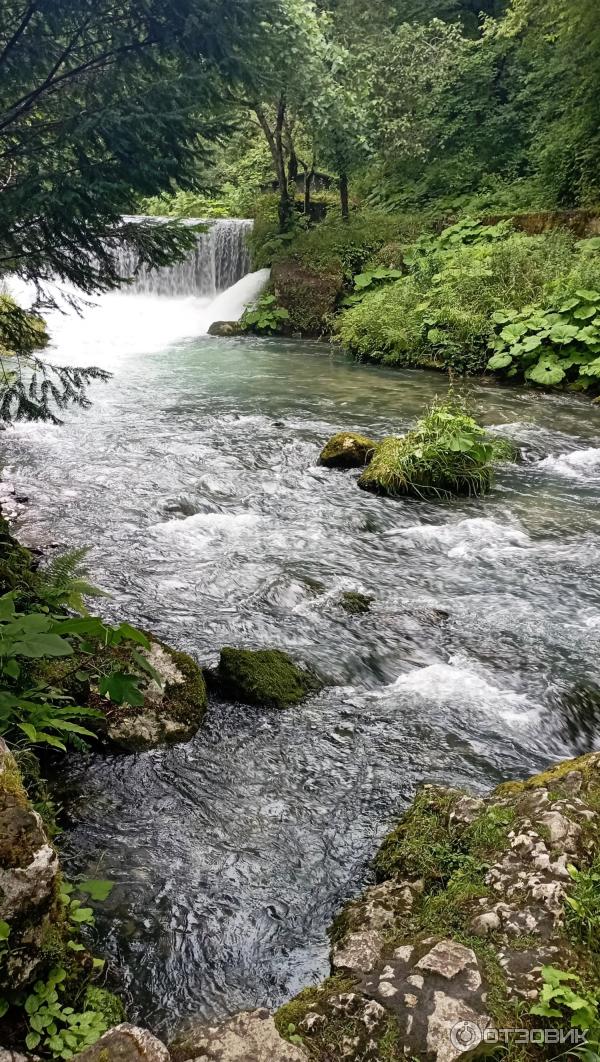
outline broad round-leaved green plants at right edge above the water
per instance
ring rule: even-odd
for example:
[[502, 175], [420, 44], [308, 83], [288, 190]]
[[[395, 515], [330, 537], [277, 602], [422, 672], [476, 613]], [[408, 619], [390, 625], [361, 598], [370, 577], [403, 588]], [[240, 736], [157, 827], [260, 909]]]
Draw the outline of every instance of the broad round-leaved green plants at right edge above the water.
[[493, 314], [487, 367], [544, 387], [600, 384], [600, 292], [585, 288], [559, 306]]

